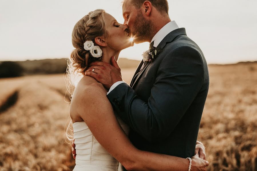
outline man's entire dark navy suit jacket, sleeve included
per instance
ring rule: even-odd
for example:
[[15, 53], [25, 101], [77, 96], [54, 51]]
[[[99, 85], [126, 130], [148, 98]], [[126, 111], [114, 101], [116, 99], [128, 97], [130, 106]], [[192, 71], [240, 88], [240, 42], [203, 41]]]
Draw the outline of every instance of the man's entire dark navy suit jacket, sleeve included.
[[185, 28], [170, 32], [157, 48], [161, 54], [141, 71], [140, 63], [130, 86], [120, 84], [107, 97], [131, 127], [137, 148], [191, 157], [209, 88], [208, 66]]

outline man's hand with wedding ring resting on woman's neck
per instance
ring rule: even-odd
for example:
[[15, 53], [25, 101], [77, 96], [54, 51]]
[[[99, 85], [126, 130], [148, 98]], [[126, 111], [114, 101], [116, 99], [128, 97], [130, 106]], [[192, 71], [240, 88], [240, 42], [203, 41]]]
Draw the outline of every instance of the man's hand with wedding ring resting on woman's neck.
[[[95, 69], [94, 72], [93, 69]], [[85, 75], [95, 78], [108, 90], [115, 82], [122, 81], [121, 70], [114, 56], [111, 57], [111, 64], [100, 61], [92, 62], [89, 69], [85, 71]]]

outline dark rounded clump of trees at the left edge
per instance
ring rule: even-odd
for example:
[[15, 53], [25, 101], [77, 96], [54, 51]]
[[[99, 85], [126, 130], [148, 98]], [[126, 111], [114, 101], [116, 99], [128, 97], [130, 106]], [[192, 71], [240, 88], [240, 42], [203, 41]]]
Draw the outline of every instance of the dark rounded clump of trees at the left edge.
[[22, 76], [24, 68], [17, 62], [4, 61], [0, 62], [0, 78]]

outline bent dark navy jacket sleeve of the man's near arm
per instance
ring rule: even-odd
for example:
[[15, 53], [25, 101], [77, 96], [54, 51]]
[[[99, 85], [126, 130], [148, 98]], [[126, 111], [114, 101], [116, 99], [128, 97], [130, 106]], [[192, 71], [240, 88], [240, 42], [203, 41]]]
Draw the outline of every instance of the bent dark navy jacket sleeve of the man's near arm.
[[204, 81], [200, 53], [180, 46], [167, 54], [157, 71], [148, 101], [127, 84], [113, 89], [108, 99], [123, 121], [150, 142], [161, 141], [174, 130]]

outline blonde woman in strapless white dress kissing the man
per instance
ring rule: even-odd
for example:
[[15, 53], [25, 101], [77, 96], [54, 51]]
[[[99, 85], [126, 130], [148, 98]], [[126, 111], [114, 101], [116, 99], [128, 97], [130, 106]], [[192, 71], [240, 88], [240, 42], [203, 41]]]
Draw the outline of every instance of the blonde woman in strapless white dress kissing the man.
[[108, 90], [94, 78], [85, 76], [91, 62], [111, 64], [113, 56], [118, 60], [121, 50], [134, 45], [127, 26], [97, 9], [76, 23], [72, 44], [75, 50], [68, 72], [82, 75], [70, 105], [77, 154], [75, 171], [206, 170], [208, 162], [197, 155], [191, 160], [137, 149], [127, 137], [129, 128], [115, 116], [106, 97]]

